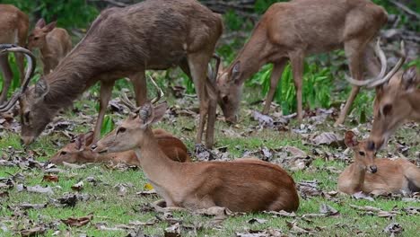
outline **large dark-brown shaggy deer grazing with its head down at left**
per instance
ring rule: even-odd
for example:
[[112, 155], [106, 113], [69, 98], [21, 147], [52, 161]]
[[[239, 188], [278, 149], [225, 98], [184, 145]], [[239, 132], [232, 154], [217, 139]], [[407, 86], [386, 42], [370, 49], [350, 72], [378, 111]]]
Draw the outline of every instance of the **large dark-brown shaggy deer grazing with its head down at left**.
[[200, 101], [196, 141], [201, 143], [208, 113], [206, 145], [213, 145], [216, 101], [207, 96], [206, 71], [222, 31], [222, 17], [197, 0], [146, 0], [104, 10], [56, 69], [20, 98], [22, 142], [31, 144], [58, 110], [101, 82], [95, 141], [118, 78], [130, 78], [136, 103], [142, 104], [146, 99], [144, 71], [180, 66], [193, 80]]

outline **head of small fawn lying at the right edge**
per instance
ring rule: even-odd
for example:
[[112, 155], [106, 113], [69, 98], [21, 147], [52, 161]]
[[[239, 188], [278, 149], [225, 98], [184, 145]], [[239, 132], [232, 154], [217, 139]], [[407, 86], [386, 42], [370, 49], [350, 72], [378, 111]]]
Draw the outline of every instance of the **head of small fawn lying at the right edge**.
[[375, 165], [376, 154], [369, 147], [367, 141], [357, 141], [357, 137], [354, 132], [347, 131], [345, 135], [345, 144], [348, 148], [353, 150], [354, 162], [361, 166], [366, 171], [375, 173], [378, 168]]

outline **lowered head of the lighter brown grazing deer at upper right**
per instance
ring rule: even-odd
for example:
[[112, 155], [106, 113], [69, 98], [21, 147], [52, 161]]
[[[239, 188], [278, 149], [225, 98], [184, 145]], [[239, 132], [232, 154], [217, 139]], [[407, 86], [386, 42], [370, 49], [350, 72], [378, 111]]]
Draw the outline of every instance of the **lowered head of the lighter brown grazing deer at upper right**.
[[241, 62], [221, 72], [217, 77], [217, 101], [227, 122], [236, 123], [241, 102]]

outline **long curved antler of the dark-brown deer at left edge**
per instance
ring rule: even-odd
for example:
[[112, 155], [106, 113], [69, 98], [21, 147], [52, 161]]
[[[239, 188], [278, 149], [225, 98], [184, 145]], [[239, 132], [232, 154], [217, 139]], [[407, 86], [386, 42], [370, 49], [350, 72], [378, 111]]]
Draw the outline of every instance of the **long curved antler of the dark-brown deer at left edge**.
[[17, 92], [15, 92], [11, 98], [10, 101], [4, 103], [0, 106], [0, 112], [5, 112], [7, 110], [10, 110], [13, 105], [18, 101], [19, 97], [22, 95], [23, 92], [26, 91], [28, 88], [28, 85], [30, 83], [31, 77], [33, 76], [33, 73], [35, 71], [36, 66], [36, 58], [32, 54], [32, 52], [26, 48], [22, 48], [19, 46], [15, 46], [13, 44], [2, 44], [0, 45], [0, 54], [9, 53], [9, 52], [19, 52], [25, 54], [25, 57], [28, 60], [29, 68], [26, 71], [25, 78], [22, 83], [21, 89], [19, 89]]

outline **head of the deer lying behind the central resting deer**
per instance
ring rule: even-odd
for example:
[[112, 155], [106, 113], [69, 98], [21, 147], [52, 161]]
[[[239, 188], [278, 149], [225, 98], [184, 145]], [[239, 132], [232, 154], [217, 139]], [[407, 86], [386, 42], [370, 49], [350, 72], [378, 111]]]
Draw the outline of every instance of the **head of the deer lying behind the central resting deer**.
[[92, 145], [93, 132], [76, 136], [71, 143], [61, 148], [49, 161], [53, 163], [63, 162], [94, 162], [95, 154], [86, 148]]

